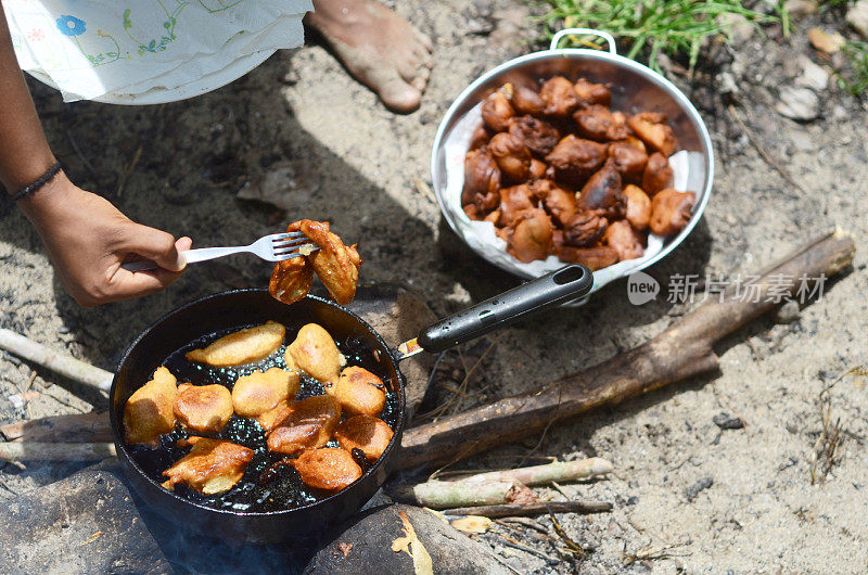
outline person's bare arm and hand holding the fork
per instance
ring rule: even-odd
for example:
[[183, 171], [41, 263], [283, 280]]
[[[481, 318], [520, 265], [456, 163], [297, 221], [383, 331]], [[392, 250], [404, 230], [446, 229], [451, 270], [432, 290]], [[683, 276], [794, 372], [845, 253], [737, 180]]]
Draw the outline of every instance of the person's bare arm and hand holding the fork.
[[[18, 68], [0, 3], [0, 182], [14, 194], [55, 163]], [[133, 222], [99, 195], [73, 184], [63, 171], [17, 202], [46, 244], [66, 291], [82, 306], [158, 292], [183, 270], [191, 241]], [[132, 273], [130, 254], [162, 269]]]

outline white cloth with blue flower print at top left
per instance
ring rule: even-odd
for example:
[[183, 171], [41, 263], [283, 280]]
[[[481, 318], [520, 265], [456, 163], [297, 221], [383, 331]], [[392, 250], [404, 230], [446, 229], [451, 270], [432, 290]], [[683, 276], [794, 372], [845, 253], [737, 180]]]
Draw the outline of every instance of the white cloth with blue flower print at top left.
[[218, 88], [304, 42], [310, 0], [4, 0], [18, 63], [65, 101], [154, 103]]

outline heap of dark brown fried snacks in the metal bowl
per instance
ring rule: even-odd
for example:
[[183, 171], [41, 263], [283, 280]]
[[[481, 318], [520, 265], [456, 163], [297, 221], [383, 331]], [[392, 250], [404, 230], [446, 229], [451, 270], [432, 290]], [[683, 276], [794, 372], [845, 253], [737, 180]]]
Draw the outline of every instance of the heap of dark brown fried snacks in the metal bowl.
[[602, 84], [556, 76], [483, 101], [461, 205], [520, 261], [554, 255], [600, 269], [640, 257], [648, 230], [673, 235], [690, 220], [695, 195], [672, 189], [666, 116], [628, 116], [611, 99]]

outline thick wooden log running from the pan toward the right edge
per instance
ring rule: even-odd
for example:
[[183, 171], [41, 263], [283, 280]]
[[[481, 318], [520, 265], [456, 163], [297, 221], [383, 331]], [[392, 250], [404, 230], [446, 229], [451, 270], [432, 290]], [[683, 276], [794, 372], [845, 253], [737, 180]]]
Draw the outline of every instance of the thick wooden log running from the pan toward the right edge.
[[730, 285], [719, 301], [702, 305], [625, 354], [536, 389], [407, 430], [396, 468], [414, 470], [451, 463], [537, 434], [554, 420], [716, 371], [713, 345], [777, 306], [768, 297], [769, 286], [776, 285], [774, 277], [793, 279], [788, 290], [793, 297], [803, 276], [813, 288], [817, 279], [825, 281], [850, 267], [855, 250], [852, 237], [835, 230], [761, 272], [754, 282], [756, 298], [739, 297], [737, 286]]

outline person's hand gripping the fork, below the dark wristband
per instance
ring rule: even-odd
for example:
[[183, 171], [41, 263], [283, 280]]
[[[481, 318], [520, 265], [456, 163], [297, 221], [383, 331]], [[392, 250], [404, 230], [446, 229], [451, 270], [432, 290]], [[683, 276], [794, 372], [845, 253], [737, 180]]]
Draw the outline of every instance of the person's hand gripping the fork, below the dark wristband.
[[[18, 202], [46, 244], [66, 291], [85, 307], [159, 292], [177, 280], [190, 238], [136, 223], [108, 201], [74, 186], [63, 173]], [[131, 272], [120, 265], [148, 258], [161, 269]]]

